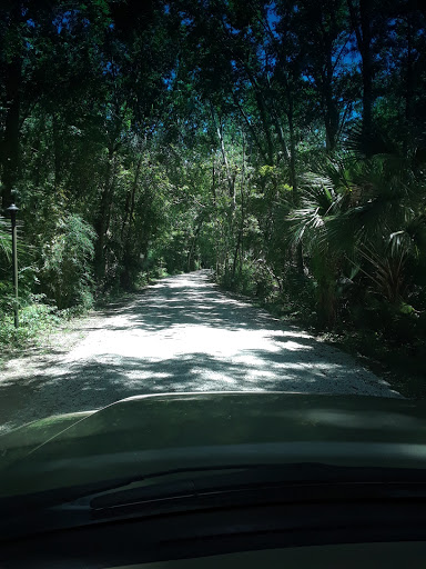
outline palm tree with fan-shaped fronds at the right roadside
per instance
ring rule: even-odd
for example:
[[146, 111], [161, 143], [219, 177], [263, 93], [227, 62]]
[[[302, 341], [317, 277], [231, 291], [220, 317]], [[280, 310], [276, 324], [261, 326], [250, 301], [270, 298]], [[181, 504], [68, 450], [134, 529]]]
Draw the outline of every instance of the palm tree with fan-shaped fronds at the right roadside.
[[287, 231], [308, 256], [322, 320], [334, 323], [338, 284], [349, 271], [382, 300], [406, 302], [410, 267], [426, 253], [426, 184], [413, 157], [359, 160], [348, 152], [305, 176], [303, 186]]

